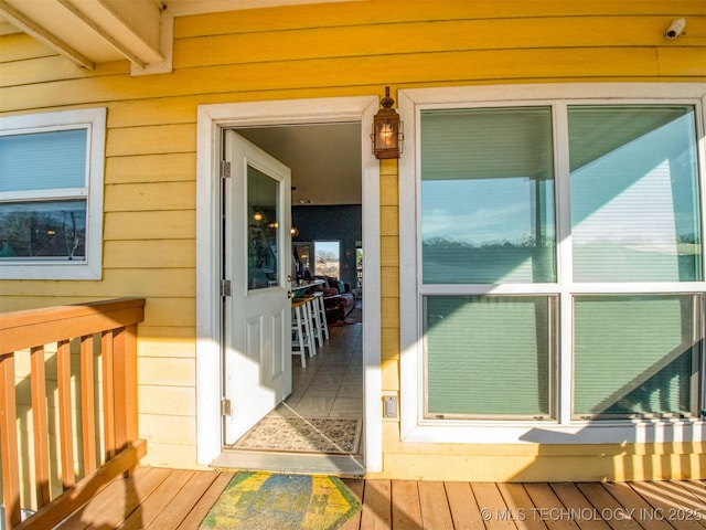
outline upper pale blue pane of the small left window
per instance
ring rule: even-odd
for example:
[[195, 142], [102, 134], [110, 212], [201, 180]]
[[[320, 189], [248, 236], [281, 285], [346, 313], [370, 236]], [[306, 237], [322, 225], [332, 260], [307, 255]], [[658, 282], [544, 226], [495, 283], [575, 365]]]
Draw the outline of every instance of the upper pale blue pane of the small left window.
[[87, 130], [0, 136], [0, 192], [86, 187]]

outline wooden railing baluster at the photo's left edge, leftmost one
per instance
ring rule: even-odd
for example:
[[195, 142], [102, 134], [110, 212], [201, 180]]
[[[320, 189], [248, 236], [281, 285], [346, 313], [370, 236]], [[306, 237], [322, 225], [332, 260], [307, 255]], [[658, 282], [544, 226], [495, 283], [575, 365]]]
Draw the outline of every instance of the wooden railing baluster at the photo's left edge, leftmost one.
[[2, 455], [2, 499], [4, 526], [20, 522], [20, 470], [18, 456], [14, 353], [0, 356], [0, 454]]

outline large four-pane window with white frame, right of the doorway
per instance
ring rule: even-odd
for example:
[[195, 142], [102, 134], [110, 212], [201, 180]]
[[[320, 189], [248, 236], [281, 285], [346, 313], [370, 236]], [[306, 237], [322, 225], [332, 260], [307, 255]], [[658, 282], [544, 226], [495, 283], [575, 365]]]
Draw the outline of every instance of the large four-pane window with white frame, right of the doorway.
[[437, 92], [400, 97], [403, 435], [609, 442], [587, 433], [699, 421], [703, 95]]

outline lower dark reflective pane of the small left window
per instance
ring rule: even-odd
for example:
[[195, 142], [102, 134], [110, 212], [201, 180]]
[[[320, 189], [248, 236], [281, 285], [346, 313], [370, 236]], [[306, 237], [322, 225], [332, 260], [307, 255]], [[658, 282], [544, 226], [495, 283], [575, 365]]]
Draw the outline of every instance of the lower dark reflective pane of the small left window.
[[85, 259], [86, 201], [0, 204], [0, 258]]

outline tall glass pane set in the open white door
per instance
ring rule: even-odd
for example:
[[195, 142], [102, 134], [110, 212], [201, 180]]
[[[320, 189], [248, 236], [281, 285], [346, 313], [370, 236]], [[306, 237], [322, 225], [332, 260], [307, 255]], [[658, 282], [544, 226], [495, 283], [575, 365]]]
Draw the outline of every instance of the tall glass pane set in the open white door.
[[279, 226], [279, 182], [257, 169], [247, 167], [248, 288], [279, 285], [277, 252]]

